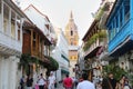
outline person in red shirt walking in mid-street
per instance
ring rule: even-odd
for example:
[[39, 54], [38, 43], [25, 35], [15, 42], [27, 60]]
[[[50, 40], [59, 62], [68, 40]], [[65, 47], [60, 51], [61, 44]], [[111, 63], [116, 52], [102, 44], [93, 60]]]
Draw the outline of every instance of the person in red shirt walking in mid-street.
[[63, 87], [65, 89], [72, 89], [73, 87], [73, 80], [69, 77], [69, 75], [65, 75], [65, 78], [63, 79]]

